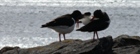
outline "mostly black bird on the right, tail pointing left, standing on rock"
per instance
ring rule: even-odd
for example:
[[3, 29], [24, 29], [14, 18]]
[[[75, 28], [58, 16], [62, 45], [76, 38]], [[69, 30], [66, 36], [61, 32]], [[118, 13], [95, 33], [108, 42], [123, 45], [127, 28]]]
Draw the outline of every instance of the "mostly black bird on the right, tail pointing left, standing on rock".
[[107, 13], [102, 12], [101, 10], [95, 10], [93, 15], [92, 21], [80, 29], [77, 29], [77, 31], [94, 32], [93, 39], [95, 39], [95, 35], [97, 36], [97, 39], [99, 39], [97, 32], [108, 28], [110, 19]]

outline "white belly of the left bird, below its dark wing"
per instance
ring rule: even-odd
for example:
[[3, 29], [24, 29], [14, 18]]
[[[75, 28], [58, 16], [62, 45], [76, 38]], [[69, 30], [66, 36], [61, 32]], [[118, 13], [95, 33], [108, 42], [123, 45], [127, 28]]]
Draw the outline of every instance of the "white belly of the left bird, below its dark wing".
[[74, 30], [74, 26], [72, 25], [71, 27], [68, 26], [55, 26], [55, 27], [51, 27], [53, 30], [55, 30], [58, 33], [62, 33], [62, 34], [66, 34], [66, 33], [70, 33]]

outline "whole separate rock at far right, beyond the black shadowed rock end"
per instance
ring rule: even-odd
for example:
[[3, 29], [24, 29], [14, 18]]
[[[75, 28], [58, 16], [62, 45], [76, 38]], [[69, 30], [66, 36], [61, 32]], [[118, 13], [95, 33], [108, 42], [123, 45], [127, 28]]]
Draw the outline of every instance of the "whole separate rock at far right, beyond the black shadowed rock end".
[[140, 54], [140, 37], [121, 35], [114, 39], [114, 54]]

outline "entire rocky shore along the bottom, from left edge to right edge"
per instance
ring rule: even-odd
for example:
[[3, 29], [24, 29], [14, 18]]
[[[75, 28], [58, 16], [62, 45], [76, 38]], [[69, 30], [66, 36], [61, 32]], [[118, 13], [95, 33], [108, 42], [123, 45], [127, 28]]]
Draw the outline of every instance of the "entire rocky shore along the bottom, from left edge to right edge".
[[0, 54], [140, 54], [140, 37], [120, 35], [99, 40], [67, 39], [33, 48], [3, 47]]

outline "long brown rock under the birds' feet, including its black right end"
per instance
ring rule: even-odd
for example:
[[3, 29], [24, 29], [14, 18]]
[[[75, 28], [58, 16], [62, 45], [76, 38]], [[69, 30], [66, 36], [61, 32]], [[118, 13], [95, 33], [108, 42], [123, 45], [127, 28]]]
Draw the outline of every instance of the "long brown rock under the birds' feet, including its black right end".
[[[47, 46], [19, 49], [18, 52], [19, 54], [109, 54], [112, 52], [112, 46], [113, 39], [109, 36], [96, 41], [69, 39], [54, 42]], [[10, 50], [3, 54], [17, 54], [17, 51]]]

